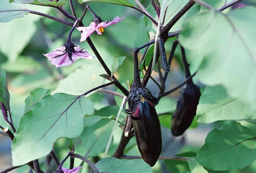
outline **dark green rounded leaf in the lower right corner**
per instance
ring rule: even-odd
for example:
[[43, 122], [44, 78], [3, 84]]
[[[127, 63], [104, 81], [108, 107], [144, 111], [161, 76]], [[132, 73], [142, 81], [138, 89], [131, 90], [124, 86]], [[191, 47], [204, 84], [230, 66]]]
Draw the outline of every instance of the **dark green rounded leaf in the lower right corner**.
[[235, 121], [210, 131], [196, 155], [197, 161], [212, 170], [236, 170], [256, 159], [256, 133]]

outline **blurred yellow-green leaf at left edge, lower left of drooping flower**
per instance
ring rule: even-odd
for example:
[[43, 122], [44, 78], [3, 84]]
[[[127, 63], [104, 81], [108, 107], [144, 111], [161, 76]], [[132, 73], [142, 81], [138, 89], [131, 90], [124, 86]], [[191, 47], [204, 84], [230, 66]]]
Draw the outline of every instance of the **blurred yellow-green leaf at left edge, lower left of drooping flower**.
[[30, 56], [20, 56], [15, 62], [7, 61], [1, 67], [7, 72], [20, 73], [38, 70], [42, 66]]

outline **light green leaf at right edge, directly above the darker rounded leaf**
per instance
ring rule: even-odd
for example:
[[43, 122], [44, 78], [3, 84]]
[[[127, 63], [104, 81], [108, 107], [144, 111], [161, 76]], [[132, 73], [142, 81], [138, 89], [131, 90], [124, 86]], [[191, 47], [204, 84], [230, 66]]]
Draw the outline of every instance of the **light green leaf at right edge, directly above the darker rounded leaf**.
[[255, 119], [256, 112], [240, 99], [228, 96], [221, 85], [206, 87], [197, 106], [196, 119], [200, 123], [219, 120]]

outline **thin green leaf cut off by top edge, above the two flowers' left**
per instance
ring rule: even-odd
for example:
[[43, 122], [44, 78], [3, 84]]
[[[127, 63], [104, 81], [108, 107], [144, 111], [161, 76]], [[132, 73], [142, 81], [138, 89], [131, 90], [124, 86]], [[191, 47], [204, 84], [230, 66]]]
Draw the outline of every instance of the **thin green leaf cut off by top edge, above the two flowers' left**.
[[51, 6], [51, 7], [62, 7], [66, 5], [65, 2], [53, 0], [10, 0], [10, 3], [16, 2], [20, 4], [34, 4], [34, 5], [43, 5], [43, 6]]

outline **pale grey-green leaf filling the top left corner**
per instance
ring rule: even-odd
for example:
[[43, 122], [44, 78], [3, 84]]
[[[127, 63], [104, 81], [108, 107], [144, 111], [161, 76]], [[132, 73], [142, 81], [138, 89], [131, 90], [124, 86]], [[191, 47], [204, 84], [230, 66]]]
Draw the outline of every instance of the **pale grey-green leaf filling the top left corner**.
[[29, 11], [23, 4], [9, 3], [1, 1], [0, 4], [0, 22], [9, 22], [15, 18], [23, 17]]

